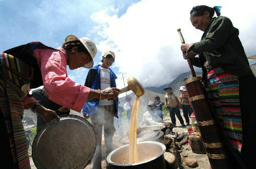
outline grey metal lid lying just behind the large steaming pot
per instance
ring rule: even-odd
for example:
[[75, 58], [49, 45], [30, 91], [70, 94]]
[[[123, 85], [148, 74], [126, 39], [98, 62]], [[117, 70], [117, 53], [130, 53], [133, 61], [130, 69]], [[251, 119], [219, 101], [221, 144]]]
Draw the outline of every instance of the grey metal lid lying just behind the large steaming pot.
[[[158, 131], [142, 130], [137, 135], [137, 143], [154, 140], [154, 139], [161, 137], [162, 135], [163, 135], [163, 132], [161, 130], [158, 130]], [[129, 137], [127, 135], [125, 135], [124, 137], [119, 139], [119, 142], [122, 144], [129, 144]]]

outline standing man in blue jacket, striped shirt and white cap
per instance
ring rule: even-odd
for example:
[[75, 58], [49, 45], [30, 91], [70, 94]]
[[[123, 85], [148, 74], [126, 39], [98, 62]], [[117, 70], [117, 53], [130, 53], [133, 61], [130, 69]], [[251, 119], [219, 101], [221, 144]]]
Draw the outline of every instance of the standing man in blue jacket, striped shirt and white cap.
[[[115, 61], [115, 53], [106, 51], [102, 54], [102, 64], [92, 67], [84, 86], [95, 90], [116, 88], [117, 76], [109, 68]], [[113, 150], [113, 135], [115, 133], [114, 116], [117, 116], [118, 98], [115, 100], [87, 99], [82, 112], [89, 115], [96, 134], [96, 150], [92, 158], [92, 168], [101, 168], [102, 126], [104, 129], [105, 159]]]

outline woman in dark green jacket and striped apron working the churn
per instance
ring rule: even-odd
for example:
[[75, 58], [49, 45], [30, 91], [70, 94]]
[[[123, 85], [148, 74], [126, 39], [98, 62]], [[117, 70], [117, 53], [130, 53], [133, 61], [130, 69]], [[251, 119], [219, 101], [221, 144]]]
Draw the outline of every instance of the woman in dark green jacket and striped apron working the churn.
[[[221, 7], [205, 5], [190, 11], [192, 25], [201, 31], [200, 42], [182, 44], [183, 58], [201, 67], [209, 100], [226, 136], [231, 152], [242, 166], [256, 166], [254, 130], [256, 78], [253, 75], [239, 30], [229, 18], [220, 16]], [[213, 17], [214, 14], [217, 17]], [[195, 57], [196, 55], [199, 57]], [[242, 161], [242, 162], [241, 162]]]

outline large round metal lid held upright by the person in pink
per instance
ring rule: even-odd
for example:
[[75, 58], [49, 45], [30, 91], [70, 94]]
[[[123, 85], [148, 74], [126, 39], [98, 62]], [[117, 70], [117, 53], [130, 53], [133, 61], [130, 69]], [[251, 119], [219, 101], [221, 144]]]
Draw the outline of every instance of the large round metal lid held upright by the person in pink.
[[40, 129], [32, 145], [32, 158], [37, 168], [84, 168], [95, 147], [92, 125], [84, 118], [67, 115]]

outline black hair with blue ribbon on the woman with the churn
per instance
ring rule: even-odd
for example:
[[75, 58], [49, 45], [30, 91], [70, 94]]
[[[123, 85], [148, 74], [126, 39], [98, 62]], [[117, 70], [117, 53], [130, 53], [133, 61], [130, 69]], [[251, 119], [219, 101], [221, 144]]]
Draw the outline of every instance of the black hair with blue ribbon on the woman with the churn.
[[204, 15], [204, 12], [209, 12], [209, 17], [212, 18], [214, 16], [214, 13], [216, 13], [217, 16], [221, 15], [221, 7], [215, 6], [214, 8], [208, 7], [206, 5], [199, 5], [196, 7], [193, 7], [190, 11], [190, 17], [193, 16], [202, 16]]

